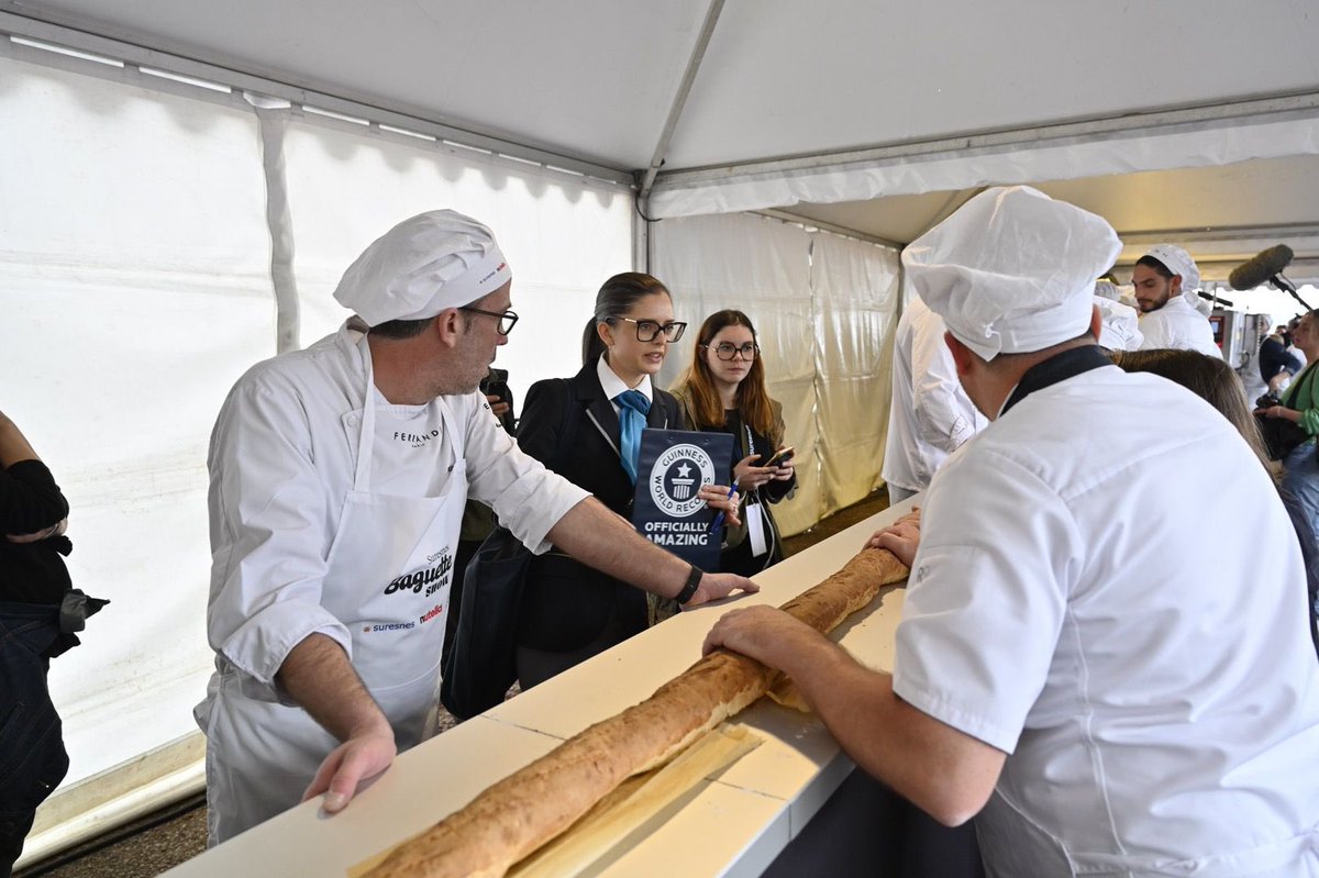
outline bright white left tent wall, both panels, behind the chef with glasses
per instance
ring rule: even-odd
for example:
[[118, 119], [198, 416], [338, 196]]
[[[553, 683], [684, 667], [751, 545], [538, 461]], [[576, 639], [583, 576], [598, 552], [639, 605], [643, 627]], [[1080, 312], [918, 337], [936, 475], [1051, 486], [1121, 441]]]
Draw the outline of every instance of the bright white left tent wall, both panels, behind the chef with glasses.
[[[257, 112], [145, 79], [0, 49], [0, 409], [70, 500], [74, 583], [112, 601], [53, 662], [71, 767], [25, 862], [158, 804], [161, 775], [186, 775], [166, 796], [195, 788], [207, 442], [232, 382], [276, 353]], [[497, 363], [514, 392], [576, 370], [595, 290], [632, 264], [629, 190], [379, 127], [284, 121], [266, 149], [284, 157], [294, 337], [342, 323], [330, 293], [367, 243], [452, 207], [489, 223], [513, 265], [522, 319]]]

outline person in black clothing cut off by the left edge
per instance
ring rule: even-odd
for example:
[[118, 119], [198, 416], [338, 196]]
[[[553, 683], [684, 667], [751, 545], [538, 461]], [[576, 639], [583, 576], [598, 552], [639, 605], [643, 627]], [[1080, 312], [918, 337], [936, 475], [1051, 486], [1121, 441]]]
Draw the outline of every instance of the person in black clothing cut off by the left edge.
[[71, 588], [63, 555], [69, 502], [18, 427], [0, 413], [0, 877], [22, 853], [32, 820], [69, 771], [50, 701], [50, 658], [77, 638], [61, 631]]

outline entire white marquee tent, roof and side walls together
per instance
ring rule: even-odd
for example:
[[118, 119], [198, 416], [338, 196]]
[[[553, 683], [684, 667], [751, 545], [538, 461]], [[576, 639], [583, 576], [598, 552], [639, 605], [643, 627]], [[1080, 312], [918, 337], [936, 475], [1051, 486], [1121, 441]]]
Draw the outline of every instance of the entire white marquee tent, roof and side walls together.
[[[1221, 279], [1287, 243], [1319, 278], [1293, 0], [0, 0], [0, 407], [79, 489], [74, 575], [116, 600], [53, 674], [70, 780], [193, 728], [219, 401], [332, 330], [338, 273], [412, 212], [497, 229], [520, 398], [575, 368], [613, 272], [690, 320], [747, 310], [816, 461], [790, 531], [878, 484], [897, 249], [981, 186], [1104, 215], [1124, 262], [1171, 240]], [[18, 418], [53, 395], [58, 424]]]

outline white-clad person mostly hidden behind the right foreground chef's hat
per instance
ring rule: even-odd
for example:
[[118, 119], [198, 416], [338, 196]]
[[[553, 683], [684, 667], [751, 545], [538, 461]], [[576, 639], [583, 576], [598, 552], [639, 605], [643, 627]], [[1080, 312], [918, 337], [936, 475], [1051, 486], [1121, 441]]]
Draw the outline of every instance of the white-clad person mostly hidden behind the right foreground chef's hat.
[[943, 341], [943, 320], [913, 297], [893, 340], [893, 402], [880, 471], [889, 502], [929, 488], [948, 455], [987, 423], [958, 381]]

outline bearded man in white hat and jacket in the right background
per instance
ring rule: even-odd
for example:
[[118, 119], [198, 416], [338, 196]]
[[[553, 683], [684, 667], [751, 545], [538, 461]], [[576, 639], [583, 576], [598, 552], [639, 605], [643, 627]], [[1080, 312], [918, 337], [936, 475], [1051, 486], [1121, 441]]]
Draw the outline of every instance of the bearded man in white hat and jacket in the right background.
[[1141, 308], [1141, 349], [1178, 348], [1223, 359], [1213, 328], [1196, 310], [1200, 269], [1191, 254], [1174, 244], [1158, 244], [1132, 269], [1132, 285]]

